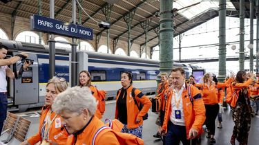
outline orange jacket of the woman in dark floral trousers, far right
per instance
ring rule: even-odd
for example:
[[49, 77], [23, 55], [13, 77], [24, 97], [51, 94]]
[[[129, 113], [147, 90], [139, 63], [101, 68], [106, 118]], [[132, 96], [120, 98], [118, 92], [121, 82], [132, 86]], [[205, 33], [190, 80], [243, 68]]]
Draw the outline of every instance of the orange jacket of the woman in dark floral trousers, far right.
[[[232, 82], [232, 85], [227, 89], [227, 100], [229, 100], [229, 104], [231, 107], [236, 107], [236, 102], [238, 101], [239, 92], [242, 88], [247, 88], [251, 83], [253, 82], [253, 79], [249, 78], [244, 83], [236, 83]], [[250, 93], [247, 89], [248, 96], [250, 96]]]

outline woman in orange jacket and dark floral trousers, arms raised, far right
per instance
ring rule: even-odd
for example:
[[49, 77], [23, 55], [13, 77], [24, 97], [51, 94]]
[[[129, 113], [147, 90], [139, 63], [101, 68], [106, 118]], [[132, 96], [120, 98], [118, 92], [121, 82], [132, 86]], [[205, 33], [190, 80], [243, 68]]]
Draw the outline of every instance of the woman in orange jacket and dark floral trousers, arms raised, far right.
[[[247, 80], [247, 73], [245, 71], [238, 71], [236, 81], [232, 82], [229, 89], [230, 95], [228, 95], [231, 96], [232, 117], [235, 123], [230, 140], [231, 144], [235, 144], [235, 140], [238, 140], [241, 145], [248, 144], [251, 126], [251, 106], [248, 87], [253, 82], [256, 82], [254, 74], [250, 75], [249, 80]], [[245, 80], [247, 81], [245, 82]]]

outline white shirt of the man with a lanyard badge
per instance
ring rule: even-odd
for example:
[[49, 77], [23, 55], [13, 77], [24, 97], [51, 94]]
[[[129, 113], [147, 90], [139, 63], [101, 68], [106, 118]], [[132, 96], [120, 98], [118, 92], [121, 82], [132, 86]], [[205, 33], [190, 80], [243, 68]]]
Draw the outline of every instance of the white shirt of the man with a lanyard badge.
[[[171, 99], [171, 115], [170, 115], [170, 120], [171, 122], [173, 122], [173, 124], [175, 125], [180, 125], [180, 126], [185, 126], [185, 121], [184, 121], [184, 110], [182, 107], [182, 91], [184, 91], [185, 89], [185, 82], [184, 85], [182, 85], [182, 88], [180, 89], [180, 91], [176, 91], [176, 89], [173, 89], [173, 95], [172, 95], [172, 99]], [[176, 107], [175, 102], [179, 103], [179, 107]], [[181, 112], [181, 119], [176, 119], [175, 118], [175, 110], [180, 110]]]

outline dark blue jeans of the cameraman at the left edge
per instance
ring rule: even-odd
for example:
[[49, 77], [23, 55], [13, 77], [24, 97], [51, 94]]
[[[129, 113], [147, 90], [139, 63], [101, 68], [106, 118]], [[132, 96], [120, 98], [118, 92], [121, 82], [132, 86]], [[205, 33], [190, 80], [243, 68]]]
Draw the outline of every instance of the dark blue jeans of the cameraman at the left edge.
[[0, 135], [3, 129], [3, 122], [6, 120], [7, 104], [7, 94], [0, 93]]

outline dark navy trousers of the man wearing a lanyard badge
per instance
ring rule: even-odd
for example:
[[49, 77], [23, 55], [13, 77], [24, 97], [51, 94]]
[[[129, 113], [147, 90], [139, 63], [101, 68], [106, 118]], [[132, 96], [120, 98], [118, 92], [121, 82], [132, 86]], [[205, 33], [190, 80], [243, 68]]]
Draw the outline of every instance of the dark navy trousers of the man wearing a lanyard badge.
[[[193, 145], [196, 144], [197, 139], [193, 139]], [[173, 124], [171, 121], [167, 124], [166, 133], [166, 145], [178, 145], [182, 142], [183, 145], [189, 145], [190, 140], [186, 139], [186, 129], [185, 126], [179, 126]]]

